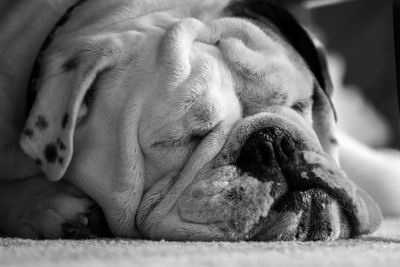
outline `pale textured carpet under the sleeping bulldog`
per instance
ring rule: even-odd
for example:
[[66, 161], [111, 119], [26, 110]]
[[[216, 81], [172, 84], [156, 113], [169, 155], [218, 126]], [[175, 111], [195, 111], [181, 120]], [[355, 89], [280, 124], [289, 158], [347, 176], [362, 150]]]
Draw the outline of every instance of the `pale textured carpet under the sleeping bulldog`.
[[0, 239], [0, 266], [400, 266], [400, 218], [335, 242]]

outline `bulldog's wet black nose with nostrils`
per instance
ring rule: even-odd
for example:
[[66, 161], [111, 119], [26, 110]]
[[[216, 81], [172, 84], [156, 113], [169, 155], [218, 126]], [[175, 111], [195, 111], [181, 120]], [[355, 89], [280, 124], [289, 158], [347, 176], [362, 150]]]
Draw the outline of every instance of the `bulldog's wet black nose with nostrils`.
[[293, 158], [296, 146], [295, 140], [279, 127], [260, 129], [247, 139], [236, 165], [258, 179], [268, 180]]

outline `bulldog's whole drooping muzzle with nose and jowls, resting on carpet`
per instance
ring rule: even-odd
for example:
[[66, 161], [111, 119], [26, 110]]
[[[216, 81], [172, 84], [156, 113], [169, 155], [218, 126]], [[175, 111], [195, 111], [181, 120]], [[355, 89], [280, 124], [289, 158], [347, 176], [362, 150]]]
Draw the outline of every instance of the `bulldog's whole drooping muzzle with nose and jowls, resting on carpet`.
[[[147, 192], [144, 206], [151, 208], [141, 209], [147, 214], [139, 214], [138, 223], [144, 236], [334, 240], [376, 228], [380, 212], [374, 201], [317, 141], [310, 141], [313, 137], [274, 116], [234, 129], [217, 157], [197, 173], [162, 218], [149, 209], [157, 207], [168, 190]], [[144, 218], [149, 213], [151, 220]]]

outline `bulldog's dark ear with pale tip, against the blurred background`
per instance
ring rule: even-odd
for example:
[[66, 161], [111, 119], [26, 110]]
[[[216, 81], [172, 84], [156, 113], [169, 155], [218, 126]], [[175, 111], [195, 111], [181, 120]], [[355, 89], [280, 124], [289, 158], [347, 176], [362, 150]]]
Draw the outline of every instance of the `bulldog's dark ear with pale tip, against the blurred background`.
[[[274, 4], [276, 2], [279, 4]], [[321, 43], [287, 11], [291, 1], [233, 1], [225, 13], [252, 20], [263, 27], [274, 27], [304, 59], [315, 77], [313, 94], [313, 124], [325, 152], [338, 160], [335, 134], [336, 112], [331, 102], [333, 85], [328, 72], [325, 51]]]

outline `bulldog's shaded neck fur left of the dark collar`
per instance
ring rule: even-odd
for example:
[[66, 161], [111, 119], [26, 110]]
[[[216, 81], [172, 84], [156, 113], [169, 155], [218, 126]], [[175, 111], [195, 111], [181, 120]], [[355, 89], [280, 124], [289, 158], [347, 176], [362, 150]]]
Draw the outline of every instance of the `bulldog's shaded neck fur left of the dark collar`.
[[[78, 0], [0, 2], [0, 113], [22, 127], [26, 93], [35, 58], [43, 41], [68, 8]], [[3, 102], [13, 103], [9, 104]], [[4, 105], [3, 105], [4, 104]]]

